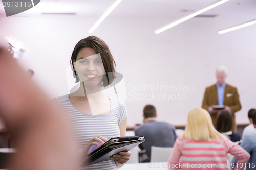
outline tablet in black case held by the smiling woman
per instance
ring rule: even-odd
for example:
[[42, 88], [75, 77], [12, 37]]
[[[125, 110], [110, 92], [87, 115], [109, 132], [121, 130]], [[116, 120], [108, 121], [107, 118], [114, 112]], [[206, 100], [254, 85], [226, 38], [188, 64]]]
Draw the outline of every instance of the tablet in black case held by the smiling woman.
[[144, 136], [124, 136], [111, 138], [101, 145], [101, 147], [84, 157], [82, 159], [82, 163], [88, 166], [94, 163], [110, 160], [112, 155], [123, 151], [130, 151], [144, 141]]

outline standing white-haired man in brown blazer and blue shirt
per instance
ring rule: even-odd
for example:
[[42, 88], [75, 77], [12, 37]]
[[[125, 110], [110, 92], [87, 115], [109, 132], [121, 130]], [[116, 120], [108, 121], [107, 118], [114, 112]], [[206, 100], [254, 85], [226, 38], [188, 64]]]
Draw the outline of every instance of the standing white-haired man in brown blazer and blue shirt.
[[241, 109], [239, 100], [239, 94], [236, 87], [233, 87], [225, 83], [227, 77], [227, 68], [220, 66], [216, 70], [217, 83], [206, 87], [204, 92], [204, 99], [202, 108], [208, 110], [210, 113], [212, 123], [216, 126], [218, 110], [212, 108], [212, 105], [225, 105], [226, 111], [232, 115], [232, 132], [237, 131], [237, 125], [235, 122], [235, 115], [237, 111]]

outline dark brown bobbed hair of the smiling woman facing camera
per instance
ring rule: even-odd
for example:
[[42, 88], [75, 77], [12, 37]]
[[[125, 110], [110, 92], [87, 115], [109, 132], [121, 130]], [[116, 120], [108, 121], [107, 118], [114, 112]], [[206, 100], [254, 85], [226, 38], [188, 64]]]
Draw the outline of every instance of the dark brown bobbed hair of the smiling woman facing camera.
[[101, 56], [101, 60], [105, 69], [106, 74], [103, 77], [103, 84], [102, 86], [106, 87], [108, 85], [110, 85], [115, 77], [115, 68], [116, 68], [116, 63], [115, 60], [112, 56], [112, 54], [110, 53], [109, 47], [108, 45], [106, 45], [106, 43], [96, 37], [96, 36], [89, 36], [87, 38], [81, 39], [75, 46], [73, 52], [72, 52], [72, 56], [70, 59], [70, 64], [73, 67], [73, 75], [76, 78], [76, 83], [79, 82], [79, 77], [76, 73], [76, 71], [74, 71], [74, 64], [73, 64], [73, 60], [76, 61], [77, 59], [77, 54], [78, 52], [82, 49], [82, 48], [92, 48], [93, 50], [96, 51], [96, 53], [100, 54]]

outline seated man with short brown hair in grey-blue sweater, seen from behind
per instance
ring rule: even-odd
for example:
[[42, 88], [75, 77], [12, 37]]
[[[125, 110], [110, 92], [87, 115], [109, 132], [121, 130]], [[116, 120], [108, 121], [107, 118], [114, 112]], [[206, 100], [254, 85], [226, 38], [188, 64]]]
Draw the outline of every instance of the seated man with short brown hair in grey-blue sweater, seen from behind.
[[140, 147], [146, 150], [148, 159], [143, 162], [150, 162], [151, 146], [155, 147], [173, 147], [177, 138], [175, 127], [166, 122], [157, 122], [156, 108], [152, 105], [146, 105], [143, 109], [143, 125], [136, 128], [136, 136], [144, 136], [145, 142]]

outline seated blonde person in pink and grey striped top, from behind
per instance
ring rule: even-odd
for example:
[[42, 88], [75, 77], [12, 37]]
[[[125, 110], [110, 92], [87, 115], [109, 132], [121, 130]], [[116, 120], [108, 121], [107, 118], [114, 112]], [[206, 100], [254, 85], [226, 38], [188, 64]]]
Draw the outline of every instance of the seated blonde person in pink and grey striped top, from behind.
[[206, 110], [193, 109], [188, 113], [185, 133], [175, 141], [168, 160], [169, 169], [210, 169], [207, 167], [210, 164], [212, 169], [228, 170], [227, 153], [238, 158], [238, 163], [241, 163], [238, 170], [244, 169], [250, 158], [250, 154], [240, 145], [214, 128]]

